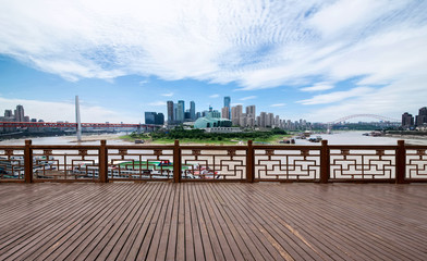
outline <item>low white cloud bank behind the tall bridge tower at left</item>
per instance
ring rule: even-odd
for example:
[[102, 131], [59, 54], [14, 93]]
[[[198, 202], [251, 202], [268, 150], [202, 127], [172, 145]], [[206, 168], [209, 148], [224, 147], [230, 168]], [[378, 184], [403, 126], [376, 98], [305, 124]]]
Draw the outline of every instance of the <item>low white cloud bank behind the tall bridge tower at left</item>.
[[[7, 99], [0, 97], [0, 110], [14, 110], [17, 104], [24, 107], [25, 114], [29, 117], [41, 119], [45, 122], [69, 121], [75, 122], [75, 107], [73, 102], [51, 102], [25, 99]], [[98, 105], [85, 105], [81, 103], [82, 122], [111, 122], [111, 123], [138, 123], [142, 121], [137, 115], [130, 115]]]

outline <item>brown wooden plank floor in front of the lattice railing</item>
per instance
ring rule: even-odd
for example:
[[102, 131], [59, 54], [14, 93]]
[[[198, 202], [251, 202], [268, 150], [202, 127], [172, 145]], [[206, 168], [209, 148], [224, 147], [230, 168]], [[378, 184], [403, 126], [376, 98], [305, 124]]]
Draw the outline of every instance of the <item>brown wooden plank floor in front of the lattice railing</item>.
[[0, 260], [427, 260], [427, 185], [0, 184]]

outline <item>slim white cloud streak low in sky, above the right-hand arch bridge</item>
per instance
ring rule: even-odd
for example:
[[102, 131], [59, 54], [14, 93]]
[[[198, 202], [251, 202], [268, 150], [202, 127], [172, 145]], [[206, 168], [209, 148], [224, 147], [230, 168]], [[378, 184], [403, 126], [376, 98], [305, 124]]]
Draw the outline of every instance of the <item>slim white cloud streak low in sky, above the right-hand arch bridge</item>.
[[318, 96], [313, 97], [312, 99], [301, 100], [297, 102], [305, 104], [305, 105], [326, 104], [326, 103], [342, 101], [342, 100], [353, 98], [353, 97], [359, 97], [363, 95], [367, 95], [371, 91], [374, 91], [373, 88], [357, 87], [357, 88], [353, 88], [353, 89], [346, 90], [346, 91], [335, 91], [335, 92], [330, 92], [327, 95], [318, 95]]

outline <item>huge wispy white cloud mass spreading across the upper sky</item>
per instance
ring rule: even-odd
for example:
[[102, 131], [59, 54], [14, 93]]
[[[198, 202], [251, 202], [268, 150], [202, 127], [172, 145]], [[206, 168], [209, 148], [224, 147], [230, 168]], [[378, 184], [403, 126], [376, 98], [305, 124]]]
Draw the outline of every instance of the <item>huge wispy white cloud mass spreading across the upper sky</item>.
[[[70, 80], [154, 75], [319, 91], [357, 78], [356, 88], [394, 86], [416, 100], [425, 82], [414, 80], [427, 74], [427, 1], [22, 0], [0, 9], [0, 53]], [[396, 85], [404, 82], [412, 85]], [[369, 101], [351, 91], [302, 103], [340, 111], [341, 100]]]

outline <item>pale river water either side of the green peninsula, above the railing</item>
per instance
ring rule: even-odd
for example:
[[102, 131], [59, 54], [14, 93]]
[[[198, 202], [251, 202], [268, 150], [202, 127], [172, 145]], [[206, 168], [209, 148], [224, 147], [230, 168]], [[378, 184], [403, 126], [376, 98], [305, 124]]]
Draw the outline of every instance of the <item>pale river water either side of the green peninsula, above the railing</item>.
[[[365, 132], [339, 132], [333, 134], [313, 135], [327, 139], [329, 145], [396, 145], [399, 139], [404, 139], [408, 145], [427, 145], [427, 137], [371, 137], [363, 136]], [[83, 136], [83, 142], [80, 145], [99, 145], [101, 139], [106, 139], [108, 145], [133, 145], [133, 142], [119, 139], [124, 134], [102, 134]], [[40, 137], [30, 138], [33, 145], [78, 145], [75, 136]], [[319, 145], [313, 144], [305, 139], [295, 139], [296, 145]], [[24, 145], [25, 139], [1, 140], [0, 145]]]

